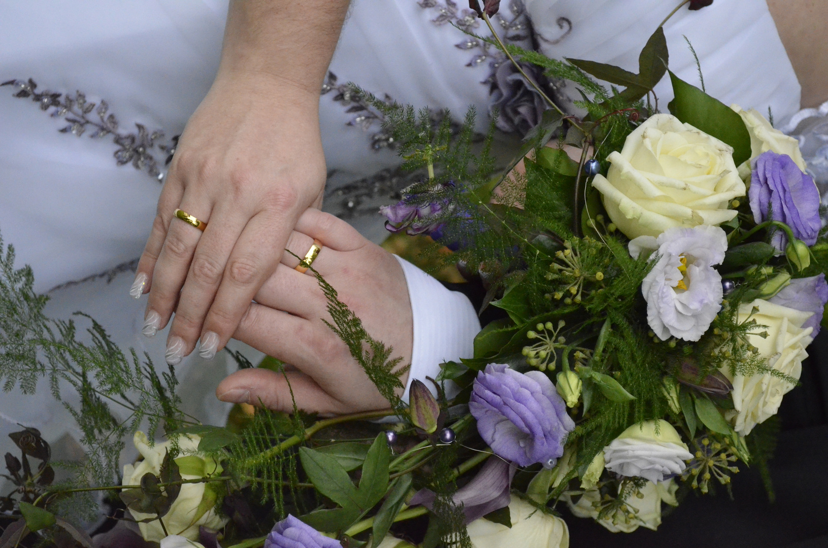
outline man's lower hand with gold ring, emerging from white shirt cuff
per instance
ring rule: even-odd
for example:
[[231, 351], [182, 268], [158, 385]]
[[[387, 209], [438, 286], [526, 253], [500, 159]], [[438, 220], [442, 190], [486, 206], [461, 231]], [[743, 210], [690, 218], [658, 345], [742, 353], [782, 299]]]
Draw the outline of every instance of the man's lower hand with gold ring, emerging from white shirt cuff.
[[[410, 363], [412, 308], [397, 259], [344, 221], [309, 209], [291, 233], [287, 249], [305, 257], [314, 238], [323, 243], [315, 270], [359, 316], [368, 334], [391, 345], [393, 355], [402, 357], [401, 365]], [[322, 321], [331, 321], [328, 302], [312, 272], [295, 270], [298, 263], [290, 253], [283, 255], [233, 335], [295, 370], [282, 375], [243, 369], [219, 384], [219, 400], [291, 412], [292, 390], [300, 409], [325, 415], [387, 409], [388, 401]], [[401, 380], [406, 379], [404, 374]]]

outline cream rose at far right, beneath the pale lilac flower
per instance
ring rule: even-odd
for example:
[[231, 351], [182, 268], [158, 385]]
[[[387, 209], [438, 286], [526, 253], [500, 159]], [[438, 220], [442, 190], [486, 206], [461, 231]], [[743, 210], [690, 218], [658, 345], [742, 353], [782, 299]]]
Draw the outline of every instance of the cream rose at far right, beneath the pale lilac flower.
[[[754, 306], [758, 308], [758, 313], [751, 315]], [[767, 338], [749, 334], [749, 343], [759, 349], [759, 355], [768, 358], [769, 367], [796, 379], [802, 374], [802, 360], [808, 357], [805, 349], [813, 340], [813, 328], [802, 329], [802, 324], [812, 314], [763, 299], [739, 306], [739, 322], [750, 316], [757, 324], [768, 326], [764, 329], [768, 332]], [[729, 416], [735, 419], [734, 430], [742, 435], [748, 435], [753, 426], [776, 415], [782, 396], [794, 387], [770, 373], [734, 377], [729, 368], [722, 368], [721, 372], [733, 383], [731, 396], [735, 411], [729, 411]]]

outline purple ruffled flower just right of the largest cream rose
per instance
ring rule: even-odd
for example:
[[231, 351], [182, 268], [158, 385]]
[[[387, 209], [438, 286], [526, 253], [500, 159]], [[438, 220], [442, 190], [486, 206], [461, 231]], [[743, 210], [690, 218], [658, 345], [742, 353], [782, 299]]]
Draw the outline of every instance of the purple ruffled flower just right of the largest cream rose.
[[[822, 227], [820, 192], [811, 175], [802, 173], [791, 156], [772, 151], [758, 156], [753, 163], [748, 197], [757, 223], [770, 219], [782, 221], [807, 245], [816, 243]], [[787, 236], [777, 230], [771, 243], [784, 251]]]

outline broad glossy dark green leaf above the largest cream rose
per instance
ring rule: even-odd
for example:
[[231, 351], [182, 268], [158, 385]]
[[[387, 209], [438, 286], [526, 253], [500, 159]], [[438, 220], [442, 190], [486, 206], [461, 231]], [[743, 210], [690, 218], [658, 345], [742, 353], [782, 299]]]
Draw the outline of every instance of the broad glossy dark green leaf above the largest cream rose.
[[711, 135], [733, 147], [733, 161], [736, 166], [750, 158], [750, 135], [742, 117], [733, 109], [713, 99], [695, 85], [670, 73], [673, 99], [667, 108], [681, 122], [689, 123], [702, 132]]

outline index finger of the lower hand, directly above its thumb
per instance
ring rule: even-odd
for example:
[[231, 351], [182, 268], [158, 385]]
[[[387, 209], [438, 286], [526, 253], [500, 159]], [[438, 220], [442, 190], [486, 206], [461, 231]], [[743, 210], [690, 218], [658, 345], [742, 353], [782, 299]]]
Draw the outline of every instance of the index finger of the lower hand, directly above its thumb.
[[342, 382], [341, 371], [331, 368], [330, 364], [349, 363], [352, 359], [348, 347], [322, 322], [305, 320], [257, 303], [249, 305], [233, 339], [291, 363], [323, 387]]

